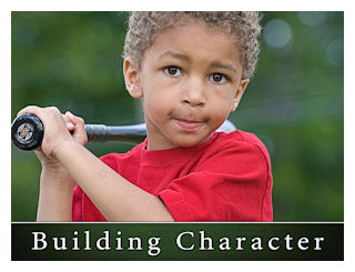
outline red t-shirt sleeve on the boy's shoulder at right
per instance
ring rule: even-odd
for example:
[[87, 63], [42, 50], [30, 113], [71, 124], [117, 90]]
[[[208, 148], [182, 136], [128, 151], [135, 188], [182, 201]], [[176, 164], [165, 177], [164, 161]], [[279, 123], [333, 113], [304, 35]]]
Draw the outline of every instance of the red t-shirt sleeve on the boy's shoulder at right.
[[227, 144], [160, 193], [175, 221], [272, 221], [268, 157]]

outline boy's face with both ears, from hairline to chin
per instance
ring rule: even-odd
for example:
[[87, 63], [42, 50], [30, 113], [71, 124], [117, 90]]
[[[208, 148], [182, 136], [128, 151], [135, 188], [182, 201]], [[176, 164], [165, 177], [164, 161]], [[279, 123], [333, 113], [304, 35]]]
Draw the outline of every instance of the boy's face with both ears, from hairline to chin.
[[126, 87], [143, 98], [148, 149], [202, 143], [236, 109], [248, 80], [235, 39], [190, 21], [161, 32], [141, 69], [125, 60]]

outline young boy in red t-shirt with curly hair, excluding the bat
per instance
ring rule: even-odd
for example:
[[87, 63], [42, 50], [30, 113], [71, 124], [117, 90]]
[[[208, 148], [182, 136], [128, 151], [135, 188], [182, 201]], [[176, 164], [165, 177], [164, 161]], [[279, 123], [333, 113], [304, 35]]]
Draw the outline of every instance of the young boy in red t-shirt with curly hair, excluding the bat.
[[21, 110], [45, 131], [36, 151], [38, 221], [272, 221], [266, 149], [251, 133], [215, 132], [255, 69], [258, 19], [132, 12], [123, 71], [129, 93], [142, 99], [148, 138], [125, 154], [95, 158], [70, 112]]

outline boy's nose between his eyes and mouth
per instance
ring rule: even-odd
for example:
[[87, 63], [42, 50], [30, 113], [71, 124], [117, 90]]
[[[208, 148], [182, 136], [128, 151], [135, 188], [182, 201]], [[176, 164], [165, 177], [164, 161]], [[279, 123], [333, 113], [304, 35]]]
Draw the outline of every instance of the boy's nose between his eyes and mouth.
[[185, 91], [183, 93], [183, 103], [190, 104], [192, 107], [204, 105], [206, 102], [205, 98], [205, 87], [201, 80], [190, 80], [185, 85]]

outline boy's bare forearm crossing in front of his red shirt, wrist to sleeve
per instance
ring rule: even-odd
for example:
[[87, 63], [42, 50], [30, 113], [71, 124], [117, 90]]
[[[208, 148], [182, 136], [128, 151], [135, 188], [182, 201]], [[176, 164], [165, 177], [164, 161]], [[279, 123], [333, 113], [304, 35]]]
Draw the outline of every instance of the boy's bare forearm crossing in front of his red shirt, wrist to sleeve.
[[108, 221], [173, 221], [164, 203], [133, 185], [74, 141], [53, 152]]

